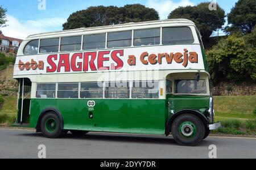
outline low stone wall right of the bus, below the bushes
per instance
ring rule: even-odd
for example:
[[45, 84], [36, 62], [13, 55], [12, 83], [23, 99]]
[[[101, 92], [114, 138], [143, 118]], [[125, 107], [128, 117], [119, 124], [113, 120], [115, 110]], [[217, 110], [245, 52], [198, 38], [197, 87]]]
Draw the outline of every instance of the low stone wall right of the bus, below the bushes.
[[220, 82], [211, 89], [212, 96], [255, 96], [256, 84], [236, 85], [231, 82]]

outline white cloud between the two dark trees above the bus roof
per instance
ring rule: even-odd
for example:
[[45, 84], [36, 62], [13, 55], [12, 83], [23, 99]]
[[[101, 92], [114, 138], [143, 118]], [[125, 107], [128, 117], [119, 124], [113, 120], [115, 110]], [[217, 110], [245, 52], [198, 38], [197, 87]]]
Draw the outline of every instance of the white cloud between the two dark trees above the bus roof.
[[194, 6], [195, 4], [189, 0], [181, 0], [180, 2], [172, 2], [170, 0], [148, 0], [146, 5], [158, 11], [160, 19], [167, 19], [171, 11], [175, 10], [177, 7]]

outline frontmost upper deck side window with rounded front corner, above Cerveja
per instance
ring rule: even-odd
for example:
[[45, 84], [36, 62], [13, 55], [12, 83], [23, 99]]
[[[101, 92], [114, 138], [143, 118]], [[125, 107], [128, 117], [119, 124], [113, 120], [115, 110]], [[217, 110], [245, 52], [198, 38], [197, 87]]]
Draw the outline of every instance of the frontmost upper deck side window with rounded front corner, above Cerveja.
[[163, 44], [191, 44], [194, 42], [192, 31], [189, 27], [163, 28]]

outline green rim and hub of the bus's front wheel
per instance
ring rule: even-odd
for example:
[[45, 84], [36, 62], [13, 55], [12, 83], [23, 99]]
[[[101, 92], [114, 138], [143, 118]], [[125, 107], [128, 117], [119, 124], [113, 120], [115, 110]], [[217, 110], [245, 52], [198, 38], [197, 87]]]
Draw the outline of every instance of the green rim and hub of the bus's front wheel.
[[196, 136], [196, 125], [192, 122], [186, 121], [180, 124], [179, 133], [184, 138], [193, 138]]

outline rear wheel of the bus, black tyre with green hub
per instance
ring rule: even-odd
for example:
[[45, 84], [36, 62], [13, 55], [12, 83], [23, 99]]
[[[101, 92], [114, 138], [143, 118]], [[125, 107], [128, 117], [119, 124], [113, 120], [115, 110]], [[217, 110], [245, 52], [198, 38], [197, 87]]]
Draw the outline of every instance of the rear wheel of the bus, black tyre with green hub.
[[41, 130], [47, 138], [60, 138], [67, 134], [67, 130], [61, 130], [60, 118], [54, 113], [49, 112], [41, 120]]

